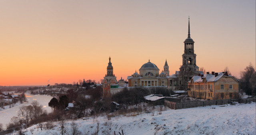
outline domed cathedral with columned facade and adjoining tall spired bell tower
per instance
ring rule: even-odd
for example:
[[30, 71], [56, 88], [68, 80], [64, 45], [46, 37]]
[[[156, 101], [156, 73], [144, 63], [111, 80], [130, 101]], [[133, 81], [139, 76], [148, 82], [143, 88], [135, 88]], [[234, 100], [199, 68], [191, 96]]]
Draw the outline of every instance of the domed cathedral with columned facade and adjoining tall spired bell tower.
[[129, 87], [159, 87], [164, 86], [172, 90], [187, 90], [188, 81], [194, 76], [202, 74], [196, 65], [196, 54], [194, 54], [194, 40], [190, 38], [190, 22], [188, 20], [188, 38], [184, 41], [184, 54], [182, 55], [182, 66], [175, 74], [169, 75], [167, 60], [164, 71], [159, 73], [158, 67], [148, 61], [143, 64], [139, 73], [128, 76]]

